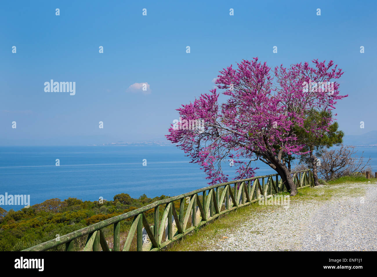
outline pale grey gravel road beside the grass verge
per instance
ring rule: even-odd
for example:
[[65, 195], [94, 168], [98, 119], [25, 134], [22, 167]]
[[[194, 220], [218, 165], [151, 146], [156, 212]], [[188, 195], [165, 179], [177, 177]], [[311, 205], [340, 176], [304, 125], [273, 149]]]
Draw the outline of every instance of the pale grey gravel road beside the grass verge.
[[207, 251], [376, 251], [377, 183], [311, 190], [323, 195], [326, 189], [333, 193], [327, 201], [291, 199], [288, 208], [251, 212], [244, 224], [219, 230], [223, 239], [208, 242]]

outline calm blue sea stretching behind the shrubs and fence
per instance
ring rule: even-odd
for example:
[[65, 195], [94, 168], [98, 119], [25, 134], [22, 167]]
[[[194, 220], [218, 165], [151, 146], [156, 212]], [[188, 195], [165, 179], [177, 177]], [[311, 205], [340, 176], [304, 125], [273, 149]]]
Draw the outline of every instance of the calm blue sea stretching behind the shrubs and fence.
[[[359, 148], [371, 155], [377, 171], [377, 148]], [[60, 166], [55, 160], [60, 159]], [[143, 159], [147, 166], [143, 166]], [[274, 174], [258, 162], [256, 175]], [[223, 166], [234, 177], [234, 167]], [[14, 146], [0, 147], [0, 194], [30, 195], [30, 205], [68, 197], [112, 200], [118, 193], [138, 198], [174, 196], [207, 186], [205, 174], [173, 146]], [[5, 210], [22, 206], [2, 205]]]

